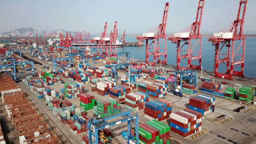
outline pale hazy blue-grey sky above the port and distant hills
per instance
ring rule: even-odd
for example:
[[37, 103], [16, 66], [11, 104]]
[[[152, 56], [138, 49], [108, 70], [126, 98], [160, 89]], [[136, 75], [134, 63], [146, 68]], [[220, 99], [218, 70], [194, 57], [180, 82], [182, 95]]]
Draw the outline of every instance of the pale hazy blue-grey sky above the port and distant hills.
[[[202, 33], [221, 31], [237, 15], [240, 0], [205, 0]], [[256, 32], [256, 0], [248, 0], [244, 31]], [[38, 30], [108, 31], [118, 21], [119, 33], [143, 33], [161, 22], [169, 2], [167, 32], [178, 32], [195, 20], [198, 0], [0, 0], [0, 32], [20, 27]]]

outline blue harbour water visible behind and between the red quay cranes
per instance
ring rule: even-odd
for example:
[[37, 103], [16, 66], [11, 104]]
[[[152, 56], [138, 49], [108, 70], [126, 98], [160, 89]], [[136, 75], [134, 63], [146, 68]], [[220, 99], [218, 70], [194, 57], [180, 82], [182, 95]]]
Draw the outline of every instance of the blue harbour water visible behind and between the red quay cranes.
[[[136, 41], [135, 36], [126, 36], [127, 42]], [[144, 42], [145, 44], [145, 42]], [[246, 77], [256, 78], [256, 37], [247, 37], [245, 42], [245, 68], [244, 75]], [[225, 47], [224, 47], [225, 48]], [[240, 50], [237, 52], [239, 54]], [[231, 51], [231, 48], [230, 48]], [[145, 46], [124, 46], [117, 48], [117, 52], [130, 52], [130, 58], [145, 59]], [[223, 51], [225, 52], [225, 51]], [[203, 70], [213, 71], [215, 47], [208, 41], [208, 37], [202, 37], [202, 66]], [[163, 58], [162, 58], [163, 60]], [[150, 58], [152, 61], [152, 57]], [[187, 61], [184, 59], [180, 63], [181, 66], [186, 66]], [[167, 41], [167, 64], [176, 65], [176, 44], [172, 44], [171, 41]], [[235, 69], [239, 70], [239, 69]], [[221, 64], [219, 66], [219, 72], [226, 72], [226, 66]]]

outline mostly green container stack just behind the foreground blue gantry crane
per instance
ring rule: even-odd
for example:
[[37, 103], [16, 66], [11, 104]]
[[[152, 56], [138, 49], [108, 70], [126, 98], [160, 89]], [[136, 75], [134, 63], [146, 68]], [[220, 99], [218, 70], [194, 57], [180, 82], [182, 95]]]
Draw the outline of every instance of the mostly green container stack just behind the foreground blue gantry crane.
[[111, 114], [120, 112], [120, 103], [117, 99], [110, 99], [105, 101], [97, 101], [97, 105], [93, 107], [94, 116], [98, 116], [98, 118], [103, 118], [105, 116], [109, 116]]

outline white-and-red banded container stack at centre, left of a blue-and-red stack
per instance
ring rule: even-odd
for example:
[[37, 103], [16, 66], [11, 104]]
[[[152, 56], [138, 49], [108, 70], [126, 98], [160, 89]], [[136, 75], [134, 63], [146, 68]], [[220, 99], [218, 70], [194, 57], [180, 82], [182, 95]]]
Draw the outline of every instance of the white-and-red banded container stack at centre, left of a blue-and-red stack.
[[131, 111], [144, 109], [144, 103], [148, 102], [148, 94], [144, 92], [133, 92], [125, 94], [125, 107]]

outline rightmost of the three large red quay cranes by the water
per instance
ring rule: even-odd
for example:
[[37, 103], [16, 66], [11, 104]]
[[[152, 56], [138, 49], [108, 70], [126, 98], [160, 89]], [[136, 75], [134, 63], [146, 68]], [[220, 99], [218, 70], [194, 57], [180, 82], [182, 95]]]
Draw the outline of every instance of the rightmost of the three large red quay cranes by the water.
[[[244, 77], [246, 37], [243, 32], [243, 22], [245, 20], [246, 7], [247, 0], [240, 0], [236, 20], [221, 32], [214, 33], [213, 37], [210, 37], [208, 40], [215, 46], [214, 74], [216, 78], [233, 80], [232, 75]], [[219, 65], [222, 63], [226, 65], [225, 74], [218, 72]], [[235, 71], [235, 68], [241, 71]]]

